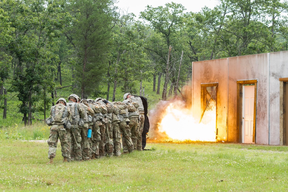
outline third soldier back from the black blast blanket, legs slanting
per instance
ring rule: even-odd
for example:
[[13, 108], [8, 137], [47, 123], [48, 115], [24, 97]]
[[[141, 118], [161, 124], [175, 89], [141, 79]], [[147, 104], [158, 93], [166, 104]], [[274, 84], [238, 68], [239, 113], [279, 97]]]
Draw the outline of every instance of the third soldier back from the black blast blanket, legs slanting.
[[119, 128], [122, 131], [122, 146], [123, 154], [133, 152], [133, 143], [131, 140], [131, 132], [129, 128], [129, 115], [128, 115], [128, 105], [122, 102], [117, 102], [117, 107], [119, 109]]

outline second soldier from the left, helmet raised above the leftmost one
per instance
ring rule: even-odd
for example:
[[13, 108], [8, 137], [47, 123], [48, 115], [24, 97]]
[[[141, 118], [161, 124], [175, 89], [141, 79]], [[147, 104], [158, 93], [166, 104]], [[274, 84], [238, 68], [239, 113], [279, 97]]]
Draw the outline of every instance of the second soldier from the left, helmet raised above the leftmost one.
[[81, 151], [81, 135], [79, 126], [84, 126], [83, 118], [85, 118], [85, 113], [82, 110], [80, 104], [77, 103], [78, 96], [75, 94], [71, 94], [68, 97], [69, 102], [67, 103], [67, 107], [70, 108], [72, 121], [71, 121], [71, 137], [68, 139], [68, 143], [70, 142], [70, 161], [83, 161], [82, 160], [82, 151]]

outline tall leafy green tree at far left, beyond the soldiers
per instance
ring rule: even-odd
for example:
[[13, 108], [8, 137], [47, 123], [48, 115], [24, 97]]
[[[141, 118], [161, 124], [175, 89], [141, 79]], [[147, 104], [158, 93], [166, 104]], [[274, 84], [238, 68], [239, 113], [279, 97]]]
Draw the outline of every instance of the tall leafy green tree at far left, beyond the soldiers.
[[53, 85], [50, 71], [58, 64], [53, 52], [57, 46], [54, 38], [59, 37], [60, 30], [70, 21], [70, 15], [64, 12], [65, 4], [62, 0], [5, 0], [1, 4], [15, 28], [14, 40], [8, 47], [18, 63], [10, 91], [19, 92], [19, 111], [24, 115], [25, 125], [32, 124], [33, 104], [39, 100], [42, 85]]

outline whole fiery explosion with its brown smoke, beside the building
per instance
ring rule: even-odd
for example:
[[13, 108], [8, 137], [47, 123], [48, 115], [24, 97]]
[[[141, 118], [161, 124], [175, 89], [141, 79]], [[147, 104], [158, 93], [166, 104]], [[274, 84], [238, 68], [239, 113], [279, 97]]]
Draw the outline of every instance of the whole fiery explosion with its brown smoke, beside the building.
[[[152, 139], [158, 141], [216, 141], [216, 103], [210, 101], [202, 121], [194, 117], [191, 105], [191, 86], [183, 88], [182, 97], [158, 103], [152, 112]], [[188, 96], [187, 96], [188, 94]], [[200, 110], [199, 110], [200, 111]], [[199, 116], [199, 115], [198, 115]], [[151, 138], [150, 138], [151, 139]]]

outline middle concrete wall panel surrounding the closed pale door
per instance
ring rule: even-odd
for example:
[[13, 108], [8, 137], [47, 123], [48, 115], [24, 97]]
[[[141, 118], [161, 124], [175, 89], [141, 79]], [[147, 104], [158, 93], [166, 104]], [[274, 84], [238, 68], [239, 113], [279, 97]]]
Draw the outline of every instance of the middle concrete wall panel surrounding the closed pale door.
[[268, 144], [269, 54], [228, 58], [228, 141], [236, 142], [237, 81], [257, 80], [256, 143]]

